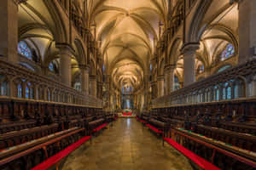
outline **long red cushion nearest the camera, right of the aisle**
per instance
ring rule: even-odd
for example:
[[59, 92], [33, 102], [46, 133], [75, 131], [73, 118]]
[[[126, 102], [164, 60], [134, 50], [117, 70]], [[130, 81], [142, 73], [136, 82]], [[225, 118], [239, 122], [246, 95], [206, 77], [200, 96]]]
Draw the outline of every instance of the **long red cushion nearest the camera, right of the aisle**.
[[168, 144], [171, 144], [175, 149], [180, 151], [184, 156], [187, 156], [191, 161], [194, 161], [198, 166], [202, 167], [203, 169], [206, 170], [220, 170], [218, 167], [212, 165], [209, 161], [201, 158], [200, 156], [197, 156], [195, 153], [192, 151], [184, 148], [181, 144], [177, 144], [172, 139], [165, 138], [166, 142]]

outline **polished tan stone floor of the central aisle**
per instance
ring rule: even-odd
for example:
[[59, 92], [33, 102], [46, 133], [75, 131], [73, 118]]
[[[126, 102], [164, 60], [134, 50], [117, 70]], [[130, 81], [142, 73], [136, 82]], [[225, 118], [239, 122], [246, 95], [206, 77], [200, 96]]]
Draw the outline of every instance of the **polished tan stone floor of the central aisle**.
[[192, 170], [189, 161], [135, 118], [113, 127], [67, 157], [62, 170]]

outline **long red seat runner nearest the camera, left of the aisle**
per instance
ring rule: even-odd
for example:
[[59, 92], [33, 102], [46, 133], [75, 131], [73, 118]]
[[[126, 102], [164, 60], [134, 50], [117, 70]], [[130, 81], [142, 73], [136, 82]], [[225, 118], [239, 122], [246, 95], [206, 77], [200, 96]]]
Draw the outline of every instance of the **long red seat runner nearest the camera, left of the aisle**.
[[67, 146], [66, 149], [61, 150], [59, 153], [55, 154], [54, 156], [49, 157], [46, 161], [43, 161], [40, 163], [37, 167], [33, 167], [32, 170], [47, 170], [49, 167], [54, 166], [58, 161], [61, 161], [64, 157], [66, 157], [68, 154], [73, 152], [73, 150], [76, 150], [81, 144], [84, 144], [87, 140], [89, 140], [90, 136], [85, 136], [83, 139], [79, 139], [74, 144], [71, 144], [70, 146]]

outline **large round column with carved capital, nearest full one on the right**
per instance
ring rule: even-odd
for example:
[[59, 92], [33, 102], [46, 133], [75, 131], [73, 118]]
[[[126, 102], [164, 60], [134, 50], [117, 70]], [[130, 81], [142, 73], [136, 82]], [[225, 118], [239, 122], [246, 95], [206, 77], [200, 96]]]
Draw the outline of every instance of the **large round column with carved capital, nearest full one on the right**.
[[187, 87], [195, 82], [195, 52], [199, 43], [188, 43], [182, 48], [183, 54], [183, 86]]

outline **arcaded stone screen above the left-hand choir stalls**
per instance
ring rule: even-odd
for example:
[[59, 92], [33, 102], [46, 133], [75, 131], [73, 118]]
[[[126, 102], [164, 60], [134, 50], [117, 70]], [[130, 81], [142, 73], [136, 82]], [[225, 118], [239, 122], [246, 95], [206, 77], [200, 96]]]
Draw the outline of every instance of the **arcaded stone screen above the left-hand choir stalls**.
[[0, 68], [0, 96], [102, 107], [102, 99], [84, 95], [61, 82], [2, 59]]

